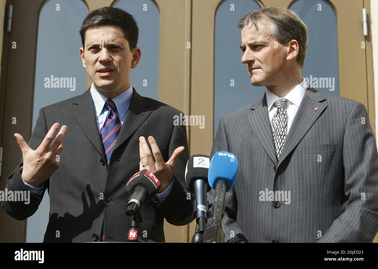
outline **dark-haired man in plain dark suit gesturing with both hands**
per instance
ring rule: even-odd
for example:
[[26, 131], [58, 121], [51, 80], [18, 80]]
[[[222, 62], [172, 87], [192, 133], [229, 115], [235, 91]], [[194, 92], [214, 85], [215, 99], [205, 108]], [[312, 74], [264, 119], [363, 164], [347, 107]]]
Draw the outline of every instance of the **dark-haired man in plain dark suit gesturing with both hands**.
[[173, 124], [180, 111], [140, 96], [131, 86], [130, 68], [141, 56], [132, 15], [117, 8], [97, 9], [85, 18], [80, 34], [82, 63], [93, 83], [81, 96], [41, 108], [28, 144], [15, 134], [23, 157], [5, 188], [33, 194], [29, 204], [8, 201], [3, 209], [25, 220], [36, 212], [47, 189], [50, 219], [44, 242], [124, 238], [131, 225], [125, 215], [125, 184], [148, 169], [161, 189], [141, 206], [139, 237], [164, 241], [164, 218], [174, 225], [193, 219], [184, 187], [186, 129]]

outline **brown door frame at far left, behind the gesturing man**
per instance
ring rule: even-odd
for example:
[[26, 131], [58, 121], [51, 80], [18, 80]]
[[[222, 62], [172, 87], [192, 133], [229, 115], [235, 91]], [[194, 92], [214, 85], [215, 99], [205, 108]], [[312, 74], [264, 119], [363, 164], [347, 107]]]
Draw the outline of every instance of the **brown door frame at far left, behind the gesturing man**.
[[[4, 189], [6, 179], [14, 170], [15, 164], [18, 164], [22, 157], [13, 134], [22, 134], [25, 141], [29, 141], [31, 136], [38, 14], [43, 2], [44, 0], [6, 1], [4, 29], [8, 25], [10, 4], [13, 5], [13, 15], [11, 33], [4, 31], [3, 34], [0, 75], [0, 102], [4, 104], [3, 110], [0, 111], [0, 138], [3, 147], [1, 190]], [[16, 48], [12, 48], [12, 42], [16, 42]], [[25, 111], [29, 111], [26, 116]], [[16, 118], [17, 124], [12, 124], [13, 117]], [[0, 210], [1, 241], [22, 243], [25, 242], [25, 235], [26, 220], [15, 220], [4, 210]]]

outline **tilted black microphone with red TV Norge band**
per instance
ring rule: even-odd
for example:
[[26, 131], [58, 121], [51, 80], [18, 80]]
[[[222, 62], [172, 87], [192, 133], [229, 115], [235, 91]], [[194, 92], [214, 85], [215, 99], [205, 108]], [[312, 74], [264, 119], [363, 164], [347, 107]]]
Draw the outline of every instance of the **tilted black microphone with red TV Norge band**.
[[132, 193], [127, 203], [126, 215], [138, 212], [143, 203], [150, 201], [160, 190], [160, 182], [153, 173], [144, 169], [133, 175], [126, 183], [126, 191]]

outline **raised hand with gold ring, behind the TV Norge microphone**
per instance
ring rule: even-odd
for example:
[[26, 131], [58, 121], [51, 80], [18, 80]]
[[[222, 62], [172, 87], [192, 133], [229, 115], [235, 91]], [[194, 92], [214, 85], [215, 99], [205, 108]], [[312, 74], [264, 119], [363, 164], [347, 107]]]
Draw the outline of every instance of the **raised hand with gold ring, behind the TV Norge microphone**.
[[[141, 159], [141, 161], [139, 162], [139, 170], [147, 169], [151, 173], [153, 173], [156, 178], [158, 178], [161, 184], [159, 193], [161, 193], [172, 182], [172, 176], [175, 170], [177, 159], [185, 148], [183, 146], [176, 148], [170, 159], [167, 162], [164, 162], [155, 139], [152, 136], [149, 136], [148, 140], [151, 145], [155, 161], [153, 161], [152, 154], [147, 145], [146, 139], [143, 136], [139, 137], [139, 156]], [[143, 165], [145, 166], [143, 167]]]

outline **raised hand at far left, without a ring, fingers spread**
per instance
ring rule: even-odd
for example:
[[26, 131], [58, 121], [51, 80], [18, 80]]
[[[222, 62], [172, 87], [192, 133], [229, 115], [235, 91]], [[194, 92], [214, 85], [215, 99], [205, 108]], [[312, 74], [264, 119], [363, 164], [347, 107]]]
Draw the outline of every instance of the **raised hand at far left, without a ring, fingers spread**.
[[63, 125], [62, 128], [60, 128], [51, 147], [48, 146], [54, 138], [54, 133], [58, 128], [59, 123], [55, 123], [36, 150], [29, 147], [22, 135], [19, 133], [14, 134], [22, 151], [22, 179], [33, 187], [39, 187], [59, 168], [59, 162], [56, 161], [56, 155], [62, 153], [62, 141], [67, 131], [66, 125]]

